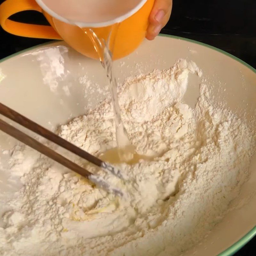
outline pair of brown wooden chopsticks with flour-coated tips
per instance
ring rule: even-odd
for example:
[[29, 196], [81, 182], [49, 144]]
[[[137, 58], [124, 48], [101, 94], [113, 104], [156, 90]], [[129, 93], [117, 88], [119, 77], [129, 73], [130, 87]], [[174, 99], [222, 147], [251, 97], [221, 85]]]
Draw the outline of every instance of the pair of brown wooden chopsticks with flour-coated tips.
[[[95, 164], [103, 169], [105, 169], [107, 172], [111, 172], [116, 177], [123, 180], [123, 176], [120, 172], [120, 170], [116, 169], [114, 166], [100, 160], [99, 158], [92, 156], [88, 152], [84, 151], [81, 148], [76, 147], [74, 144], [68, 142], [67, 140], [64, 140], [63, 138], [59, 137], [55, 133], [45, 129], [43, 126], [36, 124], [35, 122], [31, 121], [25, 116], [20, 115], [18, 112], [14, 111], [13, 109], [5, 106], [4, 104], [0, 103], [0, 114], [3, 116], [11, 119], [12, 121], [20, 124], [21, 126], [27, 128], [28, 130], [35, 132], [36, 134], [44, 137], [47, 140], [52, 141], [53, 143], [59, 145], [62, 148], [67, 149], [68, 151], [74, 153], [77, 156], [82, 157], [83, 159], [91, 162], [92, 164]], [[0, 119], [0, 130], [3, 132], [11, 135], [17, 140], [20, 140], [21, 142], [25, 143], [31, 148], [36, 149], [40, 153], [44, 154], [45, 156], [48, 156], [49, 158], [53, 159], [54, 161], [62, 164], [63, 166], [69, 168], [70, 170], [88, 178], [96, 185], [106, 189], [107, 191], [114, 193], [118, 196], [123, 196], [124, 193], [119, 188], [111, 187], [108, 182], [106, 182], [104, 179], [102, 179], [99, 176], [93, 175], [91, 172], [85, 170], [81, 166], [73, 163], [72, 161], [68, 160], [64, 156], [61, 156], [51, 148], [46, 147], [42, 143], [38, 142], [37, 140], [31, 138], [24, 132], [21, 132], [17, 128], [13, 127], [12, 125], [6, 123], [5, 121]], [[124, 183], [124, 180], [123, 180]]]

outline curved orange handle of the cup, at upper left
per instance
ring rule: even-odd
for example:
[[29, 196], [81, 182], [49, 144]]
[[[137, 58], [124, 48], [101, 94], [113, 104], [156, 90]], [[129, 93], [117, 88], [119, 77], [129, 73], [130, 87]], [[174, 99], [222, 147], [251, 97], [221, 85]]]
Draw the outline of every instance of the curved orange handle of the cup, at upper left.
[[0, 5], [0, 25], [5, 31], [17, 36], [62, 40], [51, 26], [26, 24], [8, 19], [12, 14], [28, 10], [42, 12], [42, 8], [34, 0], [6, 0]]

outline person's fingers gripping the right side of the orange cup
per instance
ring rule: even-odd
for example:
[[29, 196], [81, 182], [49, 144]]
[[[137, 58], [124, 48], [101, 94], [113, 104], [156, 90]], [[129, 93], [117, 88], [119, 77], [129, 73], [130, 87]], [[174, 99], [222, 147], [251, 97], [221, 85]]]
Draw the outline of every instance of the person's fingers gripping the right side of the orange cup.
[[172, 0], [155, 0], [149, 16], [149, 26], [146, 38], [153, 40], [170, 19]]

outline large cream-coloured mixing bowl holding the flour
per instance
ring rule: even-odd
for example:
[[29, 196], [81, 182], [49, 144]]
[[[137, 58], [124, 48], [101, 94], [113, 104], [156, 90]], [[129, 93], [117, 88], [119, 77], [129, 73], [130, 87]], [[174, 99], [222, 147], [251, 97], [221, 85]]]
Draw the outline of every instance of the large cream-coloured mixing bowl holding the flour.
[[[195, 61], [212, 86], [213, 96], [255, 125], [256, 70], [216, 48], [183, 38], [158, 36], [153, 42], [144, 42], [137, 52], [116, 61], [115, 68], [119, 82], [122, 82], [131, 74], [169, 68], [179, 58]], [[86, 76], [99, 87], [107, 84], [98, 61], [80, 55], [64, 42], [40, 45], [1, 60], [0, 102], [54, 130], [59, 124], [83, 115], [89, 105], [95, 106], [103, 99], [104, 95], [97, 90], [89, 91], [79, 83], [81, 76]], [[184, 100], [193, 104], [196, 97], [196, 90], [191, 90]], [[3, 165], [9, 156], [1, 152], [12, 148], [15, 143], [14, 139], [0, 133]], [[232, 255], [256, 234], [255, 157], [250, 170], [251, 176], [239, 197], [230, 204], [230, 211], [200, 244], [184, 255]], [[8, 175], [0, 170], [0, 179], [4, 181], [0, 187], [2, 195], [3, 191], [17, 189], [8, 186]], [[235, 204], [241, 207], [233, 209]], [[3, 211], [1, 205], [0, 214]]]

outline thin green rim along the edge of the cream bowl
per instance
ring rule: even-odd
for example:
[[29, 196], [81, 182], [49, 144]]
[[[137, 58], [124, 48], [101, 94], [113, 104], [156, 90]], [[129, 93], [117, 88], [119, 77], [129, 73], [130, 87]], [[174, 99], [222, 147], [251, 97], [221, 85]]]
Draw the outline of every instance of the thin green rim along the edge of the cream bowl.
[[[183, 41], [187, 41], [187, 42], [191, 42], [191, 43], [194, 43], [194, 44], [199, 44], [199, 45], [205, 46], [207, 48], [210, 48], [214, 51], [220, 52], [220, 53], [222, 53], [222, 54], [240, 62], [241, 64], [243, 64], [245, 67], [251, 69], [256, 74], [256, 69], [253, 68], [252, 66], [250, 66], [249, 64], [247, 64], [246, 62], [244, 62], [243, 60], [240, 60], [239, 58], [233, 56], [232, 54], [230, 54], [228, 52], [225, 52], [225, 51], [222, 51], [222, 50], [220, 50], [220, 49], [218, 49], [214, 46], [211, 46], [209, 44], [204, 44], [204, 43], [201, 43], [201, 42], [198, 42], [198, 41], [195, 41], [195, 40], [191, 40], [191, 39], [188, 39], [188, 38], [185, 38], [185, 37], [180, 37], [180, 36], [172, 36], [172, 35], [166, 35], [166, 34], [159, 34], [159, 36], [180, 39], [180, 40], [183, 40]], [[20, 52], [16, 52], [16, 53], [14, 53], [10, 56], [7, 56], [7, 57], [1, 59], [0, 63], [5, 61], [5, 60], [9, 60], [12, 57], [15, 57], [17, 55], [20, 55], [21, 53], [31, 51], [33, 49], [36, 49], [37, 47], [42, 47], [44, 45], [51, 44], [53, 42], [56, 42], [56, 40], [46, 42], [44, 44], [38, 44], [36, 46], [33, 46], [33, 47], [28, 48], [28, 49], [22, 50]], [[247, 244], [255, 235], [256, 235], [256, 226], [254, 228], [252, 228], [245, 236], [243, 236], [241, 239], [239, 239], [235, 244], [231, 245], [225, 251], [218, 254], [218, 256], [232, 256], [232, 255], [234, 255], [239, 249], [241, 249], [245, 244]]]

